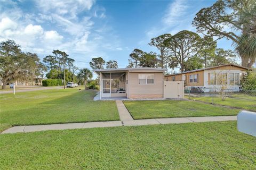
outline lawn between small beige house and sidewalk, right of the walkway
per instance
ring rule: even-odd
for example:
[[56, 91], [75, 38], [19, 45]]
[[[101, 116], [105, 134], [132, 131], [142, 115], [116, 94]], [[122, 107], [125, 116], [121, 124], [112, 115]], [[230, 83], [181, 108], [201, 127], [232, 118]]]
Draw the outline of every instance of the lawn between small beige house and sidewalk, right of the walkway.
[[134, 119], [237, 115], [239, 109], [230, 109], [188, 100], [124, 101]]

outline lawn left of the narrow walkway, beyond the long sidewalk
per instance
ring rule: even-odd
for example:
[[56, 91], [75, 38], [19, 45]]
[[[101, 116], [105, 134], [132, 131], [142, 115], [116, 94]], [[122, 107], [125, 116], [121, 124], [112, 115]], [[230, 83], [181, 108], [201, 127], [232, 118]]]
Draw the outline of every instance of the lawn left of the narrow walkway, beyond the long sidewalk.
[[119, 120], [115, 101], [93, 101], [95, 91], [77, 88], [0, 95], [0, 131], [12, 125]]

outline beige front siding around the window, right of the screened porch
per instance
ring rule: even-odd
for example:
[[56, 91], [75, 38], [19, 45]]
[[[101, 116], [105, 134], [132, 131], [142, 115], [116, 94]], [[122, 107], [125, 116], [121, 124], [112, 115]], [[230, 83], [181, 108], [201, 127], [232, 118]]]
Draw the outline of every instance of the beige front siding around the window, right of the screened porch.
[[144, 72], [129, 72], [129, 98], [163, 98], [163, 73], [154, 74], [154, 84], [139, 84], [139, 74]]

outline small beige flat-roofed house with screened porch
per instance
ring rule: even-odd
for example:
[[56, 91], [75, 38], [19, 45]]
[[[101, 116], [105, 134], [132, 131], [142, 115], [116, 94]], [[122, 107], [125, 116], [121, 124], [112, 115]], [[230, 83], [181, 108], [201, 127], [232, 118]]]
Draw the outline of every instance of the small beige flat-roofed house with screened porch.
[[164, 98], [164, 72], [158, 68], [93, 70], [99, 76], [102, 97]]

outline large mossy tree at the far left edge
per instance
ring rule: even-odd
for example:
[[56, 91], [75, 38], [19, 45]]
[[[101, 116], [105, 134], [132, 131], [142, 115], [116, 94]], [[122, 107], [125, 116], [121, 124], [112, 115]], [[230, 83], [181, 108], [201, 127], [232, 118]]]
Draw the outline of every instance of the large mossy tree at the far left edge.
[[20, 46], [13, 40], [0, 43], [2, 89], [6, 87], [6, 83], [31, 80], [40, 75], [42, 70], [45, 70], [45, 67], [37, 54], [21, 52]]

